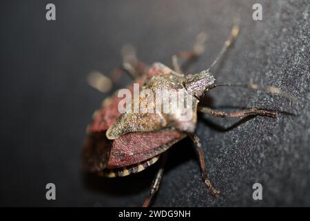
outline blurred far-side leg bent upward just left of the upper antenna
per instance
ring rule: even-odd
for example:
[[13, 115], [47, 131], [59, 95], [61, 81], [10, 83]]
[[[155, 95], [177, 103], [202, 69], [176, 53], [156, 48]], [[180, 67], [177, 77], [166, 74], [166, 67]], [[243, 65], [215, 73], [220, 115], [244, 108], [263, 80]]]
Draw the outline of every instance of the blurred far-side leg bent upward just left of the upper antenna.
[[[207, 34], [200, 32], [195, 39], [194, 46], [191, 51], [180, 51], [172, 56], [172, 66], [177, 73], [183, 74], [183, 69], [186, 69], [192, 61], [195, 61], [200, 55], [205, 52], [205, 41]], [[185, 59], [185, 63], [181, 66], [178, 59]]]

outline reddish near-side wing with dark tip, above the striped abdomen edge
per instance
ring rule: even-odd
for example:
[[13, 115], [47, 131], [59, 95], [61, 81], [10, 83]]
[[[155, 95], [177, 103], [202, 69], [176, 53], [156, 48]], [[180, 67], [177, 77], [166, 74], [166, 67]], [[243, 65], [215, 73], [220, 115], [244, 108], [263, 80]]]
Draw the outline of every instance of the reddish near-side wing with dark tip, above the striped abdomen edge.
[[131, 166], [152, 159], [183, 139], [176, 131], [127, 133], [109, 140], [104, 132], [87, 135], [83, 151], [83, 169], [90, 172]]

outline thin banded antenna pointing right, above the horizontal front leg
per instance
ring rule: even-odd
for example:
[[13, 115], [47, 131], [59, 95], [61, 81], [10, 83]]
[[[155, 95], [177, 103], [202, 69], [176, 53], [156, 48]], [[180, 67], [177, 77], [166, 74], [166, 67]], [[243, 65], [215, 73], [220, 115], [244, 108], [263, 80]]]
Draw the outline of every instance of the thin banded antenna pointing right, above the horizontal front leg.
[[214, 84], [214, 86], [212, 86], [211, 88], [216, 88], [216, 87], [220, 87], [220, 86], [229, 86], [229, 87], [231, 86], [231, 87], [238, 87], [238, 88], [251, 88], [251, 89], [255, 89], [255, 90], [261, 89], [261, 90], [267, 91], [268, 93], [280, 95], [281, 97], [285, 97], [287, 99], [290, 99], [293, 102], [297, 101], [297, 98], [295, 96], [291, 95], [291, 93], [289, 93], [285, 90], [281, 90], [280, 88], [276, 88], [275, 86], [259, 86], [258, 84]]

